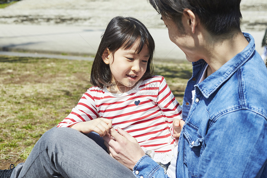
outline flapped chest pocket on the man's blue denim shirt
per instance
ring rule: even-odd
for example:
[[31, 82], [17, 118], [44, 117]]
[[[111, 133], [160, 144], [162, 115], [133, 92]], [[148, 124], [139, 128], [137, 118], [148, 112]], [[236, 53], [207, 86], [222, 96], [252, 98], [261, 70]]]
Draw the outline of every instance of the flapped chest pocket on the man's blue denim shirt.
[[189, 177], [197, 177], [199, 158], [203, 152], [203, 138], [198, 132], [198, 128], [191, 123], [187, 123], [183, 132], [184, 139], [184, 160], [183, 163], [188, 168]]

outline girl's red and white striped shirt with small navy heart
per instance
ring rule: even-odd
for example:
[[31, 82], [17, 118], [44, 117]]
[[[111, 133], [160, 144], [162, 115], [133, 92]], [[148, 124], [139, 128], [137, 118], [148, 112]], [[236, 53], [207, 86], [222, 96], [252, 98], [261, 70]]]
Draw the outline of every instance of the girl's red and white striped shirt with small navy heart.
[[106, 87], [89, 88], [57, 127], [103, 117], [111, 119], [115, 129], [120, 127], [127, 131], [146, 150], [154, 150], [155, 154], [171, 153], [175, 146], [172, 121], [181, 119], [181, 113], [182, 109], [165, 79], [152, 76], [122, 94], [111, 93]]

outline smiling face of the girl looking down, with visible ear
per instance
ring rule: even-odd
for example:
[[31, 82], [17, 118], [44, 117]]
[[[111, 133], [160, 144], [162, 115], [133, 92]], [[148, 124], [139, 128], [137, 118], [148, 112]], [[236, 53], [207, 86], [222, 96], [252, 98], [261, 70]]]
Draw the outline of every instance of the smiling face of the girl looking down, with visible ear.
[[115, 84], [109, 88], [110, 91], [129, 91], [146, 72], [149, 59], [147, 46], [144, 45], [139, 54], [135, 52], [137, 47], [138, 42], [135, 42], [132, 48], [126, 50], [119, 48], [114, 53], [114, 57], [108, 49], [103, 53], [102, 59], [106, 64], [109, 64], [111, 82]]

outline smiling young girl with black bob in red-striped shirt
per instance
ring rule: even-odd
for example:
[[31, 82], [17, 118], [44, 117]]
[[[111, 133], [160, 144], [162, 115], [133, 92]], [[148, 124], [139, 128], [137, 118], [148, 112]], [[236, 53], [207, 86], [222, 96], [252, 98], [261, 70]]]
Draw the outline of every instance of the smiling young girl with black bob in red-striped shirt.
[[108, 134], [122, 128], [156, 162], [168, 164], [176, 144], [174, 118], [181, 107], [162, 76], [153, 76], [155, 44], [147, 28], [132, 17], [107, 25], [91, 71], [94, 85], [57, 127]]

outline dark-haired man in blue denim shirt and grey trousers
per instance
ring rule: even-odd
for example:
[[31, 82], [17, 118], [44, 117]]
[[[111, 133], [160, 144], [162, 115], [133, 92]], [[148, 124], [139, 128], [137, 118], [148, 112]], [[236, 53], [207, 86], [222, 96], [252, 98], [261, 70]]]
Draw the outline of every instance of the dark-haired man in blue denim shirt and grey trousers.
[[[150, 3], [193, 65], [169, 176], [267, 177], [267, 69], [252, 36], [240, 30], [240, 0]], [[108, 153], [129, 169], [77, 130], [53, 128], [11, 177], [168, 177], [127, 132], [110, 134]]]

